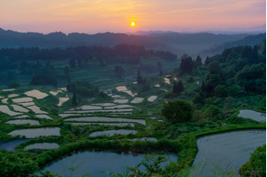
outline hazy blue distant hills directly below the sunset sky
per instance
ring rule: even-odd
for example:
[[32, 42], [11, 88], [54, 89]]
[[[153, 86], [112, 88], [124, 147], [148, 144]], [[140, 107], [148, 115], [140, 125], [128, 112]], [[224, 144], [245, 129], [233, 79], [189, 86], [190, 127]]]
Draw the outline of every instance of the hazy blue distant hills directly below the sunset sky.
[[129, 35], [125, 33], [18, 33], [0, 28], [0, 48], [9, 47], [70, 47], [70, 46], [114, 46], [121, 43], [142, 45], [148, 49], [171, 51], [178, 56], [214, 48], [225, 42], [235, 42], [250, 34], [213, 33], [156, 33], [151, 35]]

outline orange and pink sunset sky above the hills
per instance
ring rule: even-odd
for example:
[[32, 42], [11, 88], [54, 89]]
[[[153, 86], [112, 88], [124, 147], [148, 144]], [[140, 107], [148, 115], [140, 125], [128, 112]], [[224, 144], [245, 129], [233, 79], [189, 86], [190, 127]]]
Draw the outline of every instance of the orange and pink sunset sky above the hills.
[[265, 0], [0, 0], [0, 28], [17, 32], [250, 31], [265, 23]]

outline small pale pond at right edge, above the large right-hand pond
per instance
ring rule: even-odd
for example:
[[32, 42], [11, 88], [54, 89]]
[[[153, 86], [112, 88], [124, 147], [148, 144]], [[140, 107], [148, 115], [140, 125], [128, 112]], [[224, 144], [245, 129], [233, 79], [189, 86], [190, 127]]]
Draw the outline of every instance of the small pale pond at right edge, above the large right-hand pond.
[[243, 118], [251, 118], [258, 122], [266, 122], [266, 114], [260, 113], [251, 109], [242, 109], [239, 110], [238, 116]]

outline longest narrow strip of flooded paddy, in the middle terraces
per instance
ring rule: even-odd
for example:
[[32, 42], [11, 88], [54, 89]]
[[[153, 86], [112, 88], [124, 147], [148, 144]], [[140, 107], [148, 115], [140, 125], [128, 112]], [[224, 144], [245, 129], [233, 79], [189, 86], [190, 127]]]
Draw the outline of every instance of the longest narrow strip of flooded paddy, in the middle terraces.
[[112, 117], [102, 117], [102, 116], [84, 116], [84, 117], [75, 117], [67, 118], [65, 121], [83, 121], [83, 122], [132, 122], [146, 125], [144, 119], [130, 119], [130, 118], [112, 118]]

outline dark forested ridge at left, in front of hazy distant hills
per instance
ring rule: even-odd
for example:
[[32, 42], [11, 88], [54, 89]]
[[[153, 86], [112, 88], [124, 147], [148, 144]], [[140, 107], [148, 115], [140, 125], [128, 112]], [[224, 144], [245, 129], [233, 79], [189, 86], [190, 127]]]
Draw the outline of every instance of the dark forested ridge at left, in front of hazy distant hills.
[[176, 55], [169, 51], [154, 51], [146, 50], [143, 46], [119, 44], [114, 47], [100, 47], [100, 46], [79, 46], [69, 47], [66, 49], [53, 48], [53, 49], [40, 49], [40, 48], [8, 48], [1, 49], [0, 56], [2, 67], [6, 69], [11, 67], [8, 65], [8, 60], [11, 61], [24, 61], [24, 60], [77, 60], [91, 61], [105, 60], [110, 62], [122, 62], [129, 64], [139, 64], [140, 57], [157, 56], [163, 60], [173, 61], [176, 60]]

